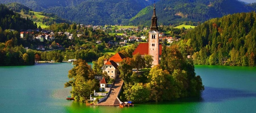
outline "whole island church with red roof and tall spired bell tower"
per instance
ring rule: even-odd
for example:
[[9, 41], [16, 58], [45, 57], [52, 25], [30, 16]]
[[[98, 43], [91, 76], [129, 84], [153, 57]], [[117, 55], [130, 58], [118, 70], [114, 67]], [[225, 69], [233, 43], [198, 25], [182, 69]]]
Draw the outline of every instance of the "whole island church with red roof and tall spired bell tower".
[[134, 50], [133, 55], [139, 53], [142, 56], [151, 55], [153, 57], [153, 66], [160, 64], [162, 55], [162, 44], [159, 44], [159, 31], [157, 25], [157, 17], [155, 13], [155, 4], [153, 16], [151, 18], [151, 26], [149, 30], [148, 43], [140, 43]]

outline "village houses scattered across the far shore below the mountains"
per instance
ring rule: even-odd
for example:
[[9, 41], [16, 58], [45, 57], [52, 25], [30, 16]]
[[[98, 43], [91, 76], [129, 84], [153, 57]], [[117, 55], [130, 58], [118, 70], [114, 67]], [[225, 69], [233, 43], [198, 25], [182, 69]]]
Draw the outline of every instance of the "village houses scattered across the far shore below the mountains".
[[[78, 26], [78, 25], [77, 25]], [[106, 28], [102, 26], [91, 26], [91, 25], [82, 25], [80, 24], [80, 27], [82, 28], [93, 28], [93, 30], [102, 30], [105, 32], [112, 32], [112, 28]], [[148, 36], [140, 36], [137, 37], [135, 35], [129, 36], [127, 32], [129, 31], [134, 31], [134, 32], [146, 32], [148, 31], [147, 28], [139, 30], [138, 28], [121, 28], [121, 29], [116, 29], [112, 34], [122, 34], [122, 35], [116, 35], [116, 40], [118, 41], [109, 41], [105, 42], [107, 43], [106, 47], [111, 48], [113, 45], [121, 45], [121, 46], [126, 46], [127, 43], [134, 43], [134, 42], [147, 42], [148, 41]], [[30, 49], [37, 49], [37, 50], [51, 50], [51, 49], [56, 49], [56, 48], [63, 48], [63, 46], [59, 43], [57, 44], [56, 48], [53, 48], [51, 44], [46, 44], [47, 41], [55, 41], [55, 36], [66, 36], [67, 39], [74, 40], [78, 39], [80, 36], [85, 35], [83, 31], [77, 30], [75, 34], [72, 34], [70, 32], [56, 32], [53, 30], [44, 30], [44, 29], [35, 29], [35, 30], [26, 30], [26, 31], [21, 31], [20, 32], [20, 38], [23, 40], [28, 40], [28, 41], [37, 41], [37, 42], [44, 42], [41, 43], [40, 45], [34, 45], [35, 48]], [[177, 41], [177, 38], [174, 38], [172, 36], [166, 36], [163, 32], [159, 34], [159, 40], [164, 41], [166, 40], [168, 43], [172, 43], [173, 41]], [[101, 44], [103, 41], [98, 40], [95, 43]], [[26, 47], [28, 48], [28, 47]]]

